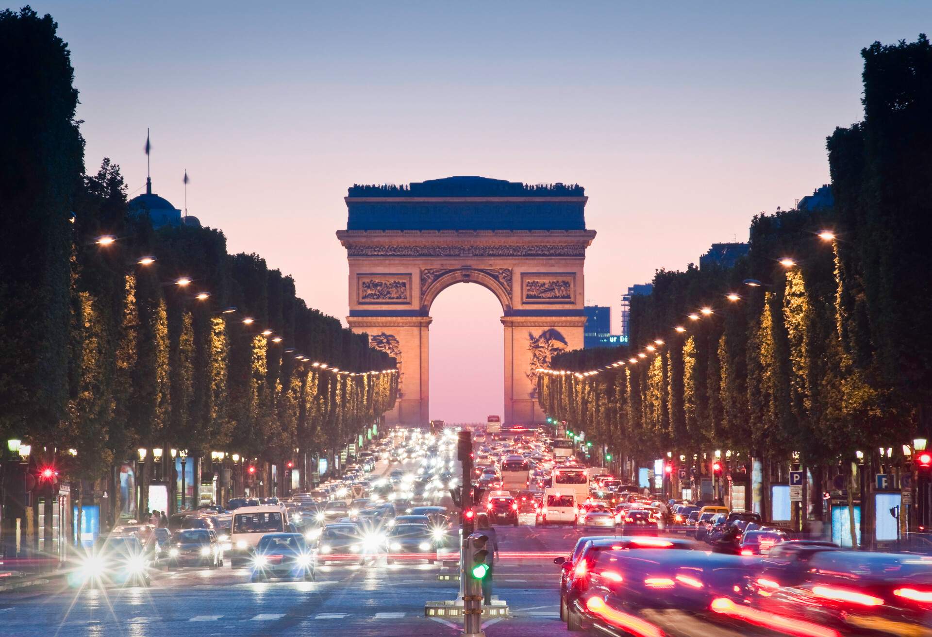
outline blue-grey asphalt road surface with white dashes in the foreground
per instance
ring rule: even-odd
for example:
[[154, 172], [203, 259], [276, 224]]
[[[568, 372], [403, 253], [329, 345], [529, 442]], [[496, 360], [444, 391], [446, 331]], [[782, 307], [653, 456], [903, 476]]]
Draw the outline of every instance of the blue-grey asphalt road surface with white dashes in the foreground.
[[[397, 467], [379, 463], [374, 473], [386, 475]], [[503, 559], [496, 565], [494, 584], [512, 616], [487, 620], [487, 635], [564, 634], [553, 558], [568, 554], [581, 533], [570, 527], [535, 527], [533, 515], [521, 521], [518, 527], [498, 527]], [[233, 569], [227, 561], [216, 570], [157, 571], [147, 589], [75, 592], [50, 586], [0, 594], [0, 634], [450, 637], [461, 624], [425, 617], [424, 602], [455, 599], [459, 582], [441, 580], [440, 575], [456, 573], [453, 566], [382, 562], [322, 566], [308, 582], [250, 583], [247, 569]]]

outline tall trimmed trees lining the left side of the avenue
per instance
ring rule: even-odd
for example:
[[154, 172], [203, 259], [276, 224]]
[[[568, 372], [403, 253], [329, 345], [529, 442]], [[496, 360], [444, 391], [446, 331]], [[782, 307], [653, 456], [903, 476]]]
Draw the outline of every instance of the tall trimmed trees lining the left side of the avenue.
[[277, 461], [376, 422], [398, 375], [366, 335], [309, 309], [260, 256], [227, 254], [219, 230], [154, 229], [109, 160], [84, 173], [55, 32], [31, 9], [0, 13], [2, 439], [94, 479], [139, 447]]

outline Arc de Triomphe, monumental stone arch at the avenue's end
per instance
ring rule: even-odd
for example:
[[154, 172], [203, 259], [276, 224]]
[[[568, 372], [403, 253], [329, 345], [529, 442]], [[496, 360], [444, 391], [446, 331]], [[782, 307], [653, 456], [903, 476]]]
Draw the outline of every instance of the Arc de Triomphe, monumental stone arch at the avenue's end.
[[336, 236], [349, 259], [347, 322], [401, 369], [386, 422], [428, 422], [431, 305], [459, 283], [483, 285], [501, 304], [504, 422], [541, 422], [535, 370], [583, 347], [583, 263], [596, 236], [583, 188], [449, 177], [354, 186], [345, 201], [347, 229]]

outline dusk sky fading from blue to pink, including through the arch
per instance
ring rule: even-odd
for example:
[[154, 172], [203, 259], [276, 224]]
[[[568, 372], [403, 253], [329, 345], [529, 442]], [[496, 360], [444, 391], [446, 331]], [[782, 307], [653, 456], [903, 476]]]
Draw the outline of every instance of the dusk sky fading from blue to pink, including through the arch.
[[[861, 48], [914, 40], [923, 2], [34, 2], [70, 44], [88, 170], [121, 165], [344, 317], [353, 183], [457, 174], [579, 183], [585, 298], [747, 240], [829, 181], [862, 116]], [[501, 412], [500, 306], [434, 305], [432, 418]]]

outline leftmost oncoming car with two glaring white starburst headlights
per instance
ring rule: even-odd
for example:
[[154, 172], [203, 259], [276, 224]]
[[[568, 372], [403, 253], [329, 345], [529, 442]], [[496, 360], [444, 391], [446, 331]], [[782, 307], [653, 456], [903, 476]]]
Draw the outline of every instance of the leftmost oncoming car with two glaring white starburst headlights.
[[88, 555], [68, 574], [72, 586], [104, 588], [110, 585], [150, 586], [150, 561], [135, 535], [99, 537]]

